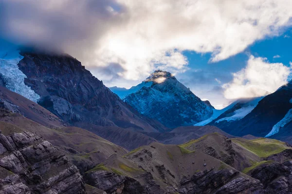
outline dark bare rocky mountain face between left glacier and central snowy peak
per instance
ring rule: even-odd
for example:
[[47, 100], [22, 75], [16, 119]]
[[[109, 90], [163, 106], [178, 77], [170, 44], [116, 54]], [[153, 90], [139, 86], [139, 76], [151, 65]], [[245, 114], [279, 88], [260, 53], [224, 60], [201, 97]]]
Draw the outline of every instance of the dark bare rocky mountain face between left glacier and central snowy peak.
[[164, 131], [159, 122], [141, 115], [71, 56], [22, 53], [18, 67], [38, 103], [73, 124], [119, 126], [139, 131]]

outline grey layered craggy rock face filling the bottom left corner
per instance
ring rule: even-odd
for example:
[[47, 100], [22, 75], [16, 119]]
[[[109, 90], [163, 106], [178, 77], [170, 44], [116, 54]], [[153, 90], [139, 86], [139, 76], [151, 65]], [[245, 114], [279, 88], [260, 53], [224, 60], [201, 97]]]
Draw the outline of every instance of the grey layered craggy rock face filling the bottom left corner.
[[0, 194], [84, 194], [76, 166], [34, 133], [0, 134]]

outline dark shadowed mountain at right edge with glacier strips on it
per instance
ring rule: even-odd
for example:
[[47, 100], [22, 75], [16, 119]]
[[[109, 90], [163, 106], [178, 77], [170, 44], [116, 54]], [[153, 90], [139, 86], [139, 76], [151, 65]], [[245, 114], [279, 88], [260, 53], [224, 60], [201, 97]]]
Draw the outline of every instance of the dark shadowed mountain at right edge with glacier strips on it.
[[[253, 110], [241, 119], [228, 120], [239, 110], [237, 106], [222, 113], [208, 125], [214, 125], [237, 136], [251, 134], [258, 137], [272, 137], [289, 143], [292, 132], [292, 82], [282, 86], [273, 94], [258, 101]], [[240, 108], [240, 107], [239, 107]], [[241, 108], [242, 109], [242, 108]], [[232, 112], [232, 113], [229, 113]]]

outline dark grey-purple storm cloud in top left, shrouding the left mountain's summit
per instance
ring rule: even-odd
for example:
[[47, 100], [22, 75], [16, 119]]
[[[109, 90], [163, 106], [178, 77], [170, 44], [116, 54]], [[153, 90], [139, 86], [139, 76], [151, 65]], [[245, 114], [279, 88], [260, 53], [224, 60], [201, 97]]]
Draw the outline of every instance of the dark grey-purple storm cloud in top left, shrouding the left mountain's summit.
[[86, 54], [116, 22], [112, 7], [123, 11], [114, 0], [2, 0], [0, 39]]

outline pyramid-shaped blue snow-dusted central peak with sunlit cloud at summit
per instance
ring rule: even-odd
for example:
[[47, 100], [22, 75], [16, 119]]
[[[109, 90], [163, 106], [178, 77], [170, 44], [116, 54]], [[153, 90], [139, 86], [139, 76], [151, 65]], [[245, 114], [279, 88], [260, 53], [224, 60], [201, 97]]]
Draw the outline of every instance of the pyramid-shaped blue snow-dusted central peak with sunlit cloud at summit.
[[[151, 83], [146, 84], [146, 83]], [[192, 125], [212, 115], [212, 108], [166, 71], [156, 70], [124, 101], [169, 128]]]

